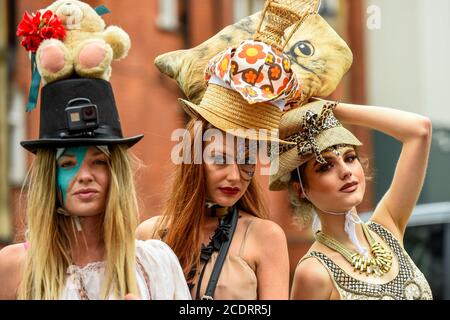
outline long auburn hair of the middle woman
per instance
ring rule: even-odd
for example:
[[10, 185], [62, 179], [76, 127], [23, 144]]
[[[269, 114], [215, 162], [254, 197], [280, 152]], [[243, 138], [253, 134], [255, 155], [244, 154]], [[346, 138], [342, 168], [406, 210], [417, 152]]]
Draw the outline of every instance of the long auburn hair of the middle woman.
[[[194, 132], [196, 121], [202, 122], [200, 132], [202, 136], [210, 127], [202, 118], [192, 119], [186, 128], [191, 137], [199, 133]], [[194, 140], [191, 139], [191, 150], [194, 148]], [[193, 163], [193, 153], [191, 157], [191, 163]], [[177, 165], [168, 194], [170, 196], [166, 201], [161, 219], [154, 229], [154, 237], [161, 237], [164, 234], [164, 241], [177, 255], [183, 272], [188, 278], [191, 268], [195, 267], [198, 270], [200, 263], [200, 227], [205, 215], [206, 202], [203, 162], [202, 164]], [[237, 206], [240, 210], [264, 219], [268, 217], [268, 212], [262, 199], [260, 187], [253, 178]]]

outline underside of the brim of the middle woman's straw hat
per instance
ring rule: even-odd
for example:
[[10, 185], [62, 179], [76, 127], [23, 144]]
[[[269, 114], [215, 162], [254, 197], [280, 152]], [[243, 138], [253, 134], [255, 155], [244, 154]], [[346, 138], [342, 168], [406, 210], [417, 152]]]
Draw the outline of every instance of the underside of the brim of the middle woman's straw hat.
[[[258, 134], [258, 130], [255, 128], [244, 128], [240, 124], [234, 123], [230, 119], [223, 119], [216, 114], [210, 112], [206, 108], [202, 108], [190, 101], [184, 99], [178, 99], [184, 112], [186, 112], [191, 118], [201, 117], [211, 123], [217, 129], [224, 132], [229, 132], [230, 134], [249, 140], [262, 140], [269, 142], [278, 142], [281, 144], [294, 144], [292, 142], [284, 141], [279, 138], [270, 135]], [[252, 130], [253, 129], [253, 130]]]

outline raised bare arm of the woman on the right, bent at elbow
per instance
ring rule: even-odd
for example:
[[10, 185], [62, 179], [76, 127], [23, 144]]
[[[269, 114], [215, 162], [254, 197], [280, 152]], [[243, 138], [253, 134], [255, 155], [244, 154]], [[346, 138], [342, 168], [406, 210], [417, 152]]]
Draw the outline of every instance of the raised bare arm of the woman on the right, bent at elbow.
[[372, 217], [401, 241], [425, 179], [431, 146], [431, 121], [401, 110], [345, 103], [339, 104], [334, 113], [343, 123], [375, 129], [402, 142], [392, 183]]

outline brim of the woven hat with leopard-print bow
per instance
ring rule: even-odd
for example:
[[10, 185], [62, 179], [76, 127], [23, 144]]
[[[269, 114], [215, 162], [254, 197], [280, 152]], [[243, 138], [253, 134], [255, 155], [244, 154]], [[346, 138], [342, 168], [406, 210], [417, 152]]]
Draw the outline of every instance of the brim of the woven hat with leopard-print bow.
[[[323, 152], [332, 146], [341, 144], [356, 147], [362, 146], [361, 141], [344, 127], [331, 128], [322, 132], [317, 138], [317, 144], [320, 146], [320, 152]], [[278, 158], [273, 160], [270, 164], [271, 175], [269, 177], [269, 190], [281, 191], [287, 189], [289, 181], [287, 178], [284, 179], [283, 177], [290, 174], [293, 170], [308, 162], [313, 157], [312, 154], [299, 156], [297, 148], [292, 148], [280, 154]], [[276, 163], [277, 161], [278, 163]], [[278, 168], [276, 168], [276, 166], [278, 166]]]

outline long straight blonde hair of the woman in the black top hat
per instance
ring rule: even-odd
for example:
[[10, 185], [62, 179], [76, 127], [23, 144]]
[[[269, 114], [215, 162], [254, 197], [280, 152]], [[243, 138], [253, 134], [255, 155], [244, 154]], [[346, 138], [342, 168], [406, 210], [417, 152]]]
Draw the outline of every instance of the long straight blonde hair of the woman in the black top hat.
[[[131, 156], [125, 147], [109, 148], [110, 186], [103, 217], [105, 276], [101, 298], [138, 294], [134, 232], [138, 205]], [[56, 213], [56, 158], [42, 149], [31, 166], [27, 193], [27, 251], [19, 299], [59, 299], [72, 264], [72, 219]], [[50, 191], [49, 191], [50, 190]]]

